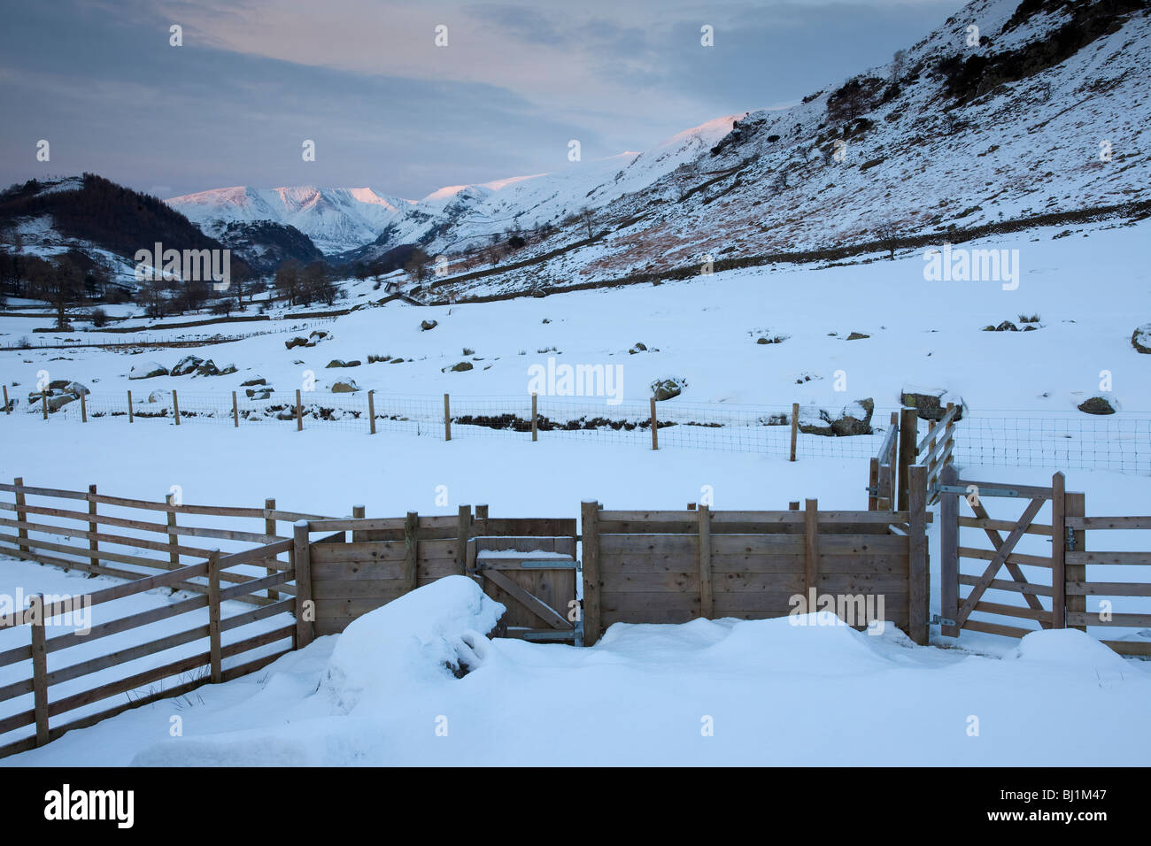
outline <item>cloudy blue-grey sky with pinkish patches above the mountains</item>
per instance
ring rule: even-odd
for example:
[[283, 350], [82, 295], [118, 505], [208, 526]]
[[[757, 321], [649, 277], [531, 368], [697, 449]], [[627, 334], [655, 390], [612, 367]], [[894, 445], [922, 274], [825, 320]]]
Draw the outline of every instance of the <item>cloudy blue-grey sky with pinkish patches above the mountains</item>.
[[161, 196], [313, 184], [420, 198], [562, 168], [573, 138], [595, 159], [794, 102], [961, 6], [2, 0], [0, 183], [91, 170]]

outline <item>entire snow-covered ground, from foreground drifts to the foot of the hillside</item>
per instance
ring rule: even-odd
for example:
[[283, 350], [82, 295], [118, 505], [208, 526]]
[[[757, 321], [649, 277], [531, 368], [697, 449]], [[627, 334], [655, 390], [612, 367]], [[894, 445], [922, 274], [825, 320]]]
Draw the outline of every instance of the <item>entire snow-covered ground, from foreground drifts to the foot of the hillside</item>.
[[[315, 346], [292, 350], [284, 348], [284, 335], [266, 335], [135, 356], [91, 348], [5, 352], [3, 381], [20, 404], [0, 420], [8, 444], [0, 477], [71, 489], [96, 482], [101, 493], [154, 500], [180, 485], [190, 503], [259, 505], [275, 497], [281, 509], [331, 516], [350, 515], [353, 504], [364, 504], [368, 516], [391, 517], [487, 503], [494, 517], [573, 517], [581, 500], [607, 508], [679, 509], [699, 501], [704, 486], [717, 509], [782, 509], [806, 497], [817, 497], [821, 508], [859, 509], [875, 440], [866, 436], [806, 436], [840, 443], [844, 452], [823, 458], [801, 452], [801, 460], [790, 463], [778, 455], [718, 452], [692, 443], [653, 451], [642, 443], [643, 433], [640, 443], [558, 433], [541, 433], [532, 443], [523, 434], [480, 437], [490, 430], [459, 426], [444, 442], [439, 432], [417, 436], [382, 425], [369, 436], [360, 421], [310, 420], [302, 433], [283, 421], [233, 428], [227, 418], [220, 425], [190, 419], [178, 429], [170, 420], [129, 426], [115, 417], [82, 425], [71, 406], [45, 424], [26, 413], [26, 392], [46, 369], [51, 379], [85, 383], [93, 391], [90, 409], [128, 389], [146, 402], [148, 392], [171, 388], [182, 401], [199, 397], [227, 407], [243, 381], [260, 376], [277, 394], [292, 395], [312, 371], [320, 391], [353, 378], [359, 403], [367, 389], [380, 397], [427, 396], [435, 419], [439, 394], [445, 391], [453, 407], [491, 402], [503, 409], [500, 403], [510, 398], [526, 401], [528, 368], [555, 357], [622, 366], [622, 405], [604, 396], [579, 398], [604, 417], [630, 405], [642, 409], [651, 382], [679, 378], [686, 387], [660, 404], [662, 414], [735, 405], [787, 409], [793, 401], [834, 411], [864, 397], [879, 409], [893, 407], [912, 383], [962, 396], [969, 417], [960, 432], [981, 416], [1006, 410], [1027, 419], [1093, 422], [1099, 418], [1075, 405], [1096, 395], [1120, 409], [1114, 419], [1142, 419], [1141, 412], [1151, 411], [1151, 357], [1133, 349], [1130, 334], [1146, 322], [1151, 294], [1141, 259], [1148, 224], [1053, 238], [1057, 234], [983, 244], [1020, 250], [1015, 290], [998, 282], [928, 282], [922, 256], [914, 254], [544, 299], [366, 307], [327, 325], [330, 337]], [[353, 302], [369, 292], [369, 284], [351, 288]], [[1035, 331], [981, 330], [1032, 313], [1041, 315]], [[421, 320], [437, 326], [422, 330]], [[9, 335], [30, 325], [36, 321], [0, 318], [0, 331]], [[870, 337], [846, 341], [852, 331]], [[777, 335], [785, 336], [782, 343], [756, 343]], [[630, 353], [637, 342], [648, 350]], [[465, 346], [474, 351], [464, 353]], [[226, 376], [128, 378], [138, 363], [170, 368], [189, 353], [238, 369]], [[404, 361], [369, 365], [368, 353]], [[336, 358], [364, 364], [325, 367]], [[473, 368], [445, 372], [462, 360]], [[1100, 392], [1102, 371], [1111, 373], [1111, 392]], [[846, 381], [846, 390], [836, 390], [837, 379]], [[571, 398], [541, 396], [540, 412], [548, 414], [549, 402], [561, 401]], [[885, 416], [877, 411], [876, 418]], [[674, 443], [672, 432], [666, 441]], [[1151, 449], [1137, 439], [1129, 447], [1144, 456]], [[1046, 483], [1052, 467], [1043, 464], [961, 470], [982, 480]], [[1087, 493], [1088, 513], [1149, 512], [1146, 472], [1065, 468], [1067, 488]], [[1038, 520], [1045, 518], [1041, 512]], [[937, 532], [933, 526], [932, 562]], [[1139, 544], [1137, 538], [1115, 538], [1107, 546], [1146, 548]], [[1024, 538], [1017, 549], [1044, 554], [1046, 539]], [[937, 613], [939, 577], [932, 570]], [[1149, 571], [1123, 567], [1092, 578], [1151, 581]], [[12, 562], [0, 573], [0, 588], [8, 592], [46, 589], [39, 574], [45, 585], [59, 578], [51, 569]], [[458, 586], [425, 589], [256, 676], [200, 688], [195, 704], [183, 703], [186, 710], [176, 711], [170, 702], [146, 706], [8, 763], [1122, 764], [1145, 760], [1151, 750], [1142, 716], [1151, 701], [1151, 665], [1118, 658], [1074, 632], [1038, 633], [1020, 645], [970, 632], [951, 641], [932, 626], [932, 645], [914, 647], [891, 632], [869, 637], [837, 626], [792, 627], [787, 620], [696, 620], [617, 626], [596, 647], [576, 650], [465, 634], [488, 631], [490, 609], [477, 610], [475, 597], [464, 593]], [[1015, 594], [986, 597], [1019, 602]], [[1089, 610], [1095, 602], [1089, 597]], [[1146, 612], [1148, 603], [1129, 600], [1113, 610]], [[450, 625], [429, 632], [430, 622], [440, 619]], [[1134, 630], [1089, 634], [1146, 638]], [[436, 650], [444, 642], [463, 648], [460, 637], [477, 657], [473, 671], [456, 679], [440, 672]], [[381, 642], [396, 647], [389, 651]], [[372, 655], [390, 657], [365, 664], [366, 643]], [[352, 669], [346, 655], [360, 656]], [[344, 668], [338, 679], [337, 668]], [[366, 692], [357, 694], [356, 704], [353, 688]], [[1051, 702], [1061, 707], [1052, 709]], [[1052, 747], [1043, 738], [1057, 724], [1067, 731], [1067, 709], [1076, 715], [1072, 742]], [[184, 736], [169, 738], [177, 712]], [[980, 719], [977, 737], [967, 733], [971, 716]], [[447, 718], [445, 737], [436, 733], [444, 725], [440, 717]], [[702, 736], [710, 724], [714, 737]], [[870, 750], [859, 748], [861, 736]]]

